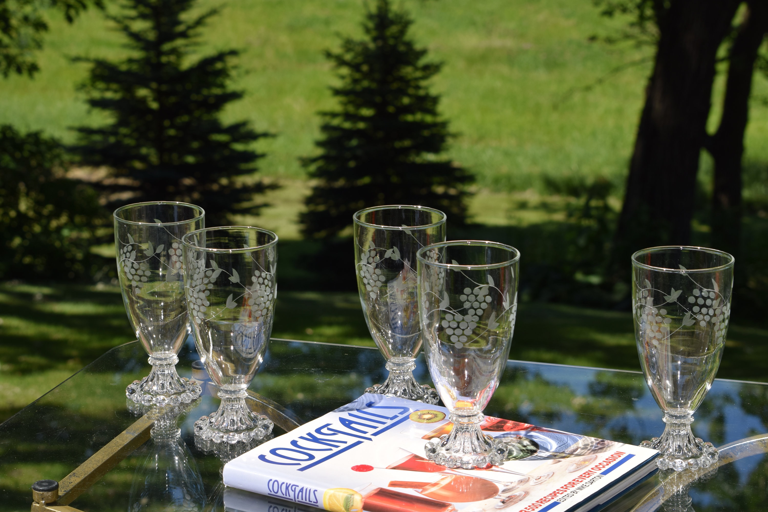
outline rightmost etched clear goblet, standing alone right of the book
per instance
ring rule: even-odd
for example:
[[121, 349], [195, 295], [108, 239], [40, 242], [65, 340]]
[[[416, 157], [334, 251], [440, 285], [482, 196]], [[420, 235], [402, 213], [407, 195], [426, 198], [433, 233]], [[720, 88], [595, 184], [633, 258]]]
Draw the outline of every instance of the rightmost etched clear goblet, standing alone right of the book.
[[694, 411], [720, 366], [733, 289], [733, 256], [670, 246], [632, 255], [637, 352], [650, 392], [664, 411], [664, 434], [643, 441], [661, 469], [708, 467], [717, 449], [694, 437]]

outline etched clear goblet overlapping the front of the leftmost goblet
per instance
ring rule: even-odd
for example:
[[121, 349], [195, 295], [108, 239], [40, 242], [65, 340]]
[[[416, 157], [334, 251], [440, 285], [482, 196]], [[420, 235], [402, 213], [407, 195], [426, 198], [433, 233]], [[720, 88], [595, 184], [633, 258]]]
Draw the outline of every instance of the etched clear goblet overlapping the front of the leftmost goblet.
[[194, 424], [195, 435], [230, 444], [262, 439], [272, 421], [246, 405], [272, 333], [277, 236], [247, 226], [209, 228], [184, 236], [187, 308], [200, 361], [221, 405]]

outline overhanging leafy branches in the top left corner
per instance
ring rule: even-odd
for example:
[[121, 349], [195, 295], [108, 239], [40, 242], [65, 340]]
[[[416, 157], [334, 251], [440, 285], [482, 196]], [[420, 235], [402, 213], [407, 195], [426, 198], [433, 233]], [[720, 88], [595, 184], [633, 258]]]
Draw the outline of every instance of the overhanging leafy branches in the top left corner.
[[0, 0], [0, 74], [32, 76], [40, 69], [34, 52], [42, 48], [42, 35], [48, 31], [44, 8], [58, 8], [71, 23], [87, 5], [84, 0]]

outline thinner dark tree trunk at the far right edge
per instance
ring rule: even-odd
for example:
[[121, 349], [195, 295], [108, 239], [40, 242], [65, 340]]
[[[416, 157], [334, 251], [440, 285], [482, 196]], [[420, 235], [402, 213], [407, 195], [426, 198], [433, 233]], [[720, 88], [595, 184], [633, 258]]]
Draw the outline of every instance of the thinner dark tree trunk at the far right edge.
[[747, 8], [730, 48], [723, 117], [707, 144], [715, 163], [711, 244], [734, 256], [739, 253], [741, 238], [741, 158], [752, 74], [757, 51], [768, 31], [765, 0], [747, 2]]

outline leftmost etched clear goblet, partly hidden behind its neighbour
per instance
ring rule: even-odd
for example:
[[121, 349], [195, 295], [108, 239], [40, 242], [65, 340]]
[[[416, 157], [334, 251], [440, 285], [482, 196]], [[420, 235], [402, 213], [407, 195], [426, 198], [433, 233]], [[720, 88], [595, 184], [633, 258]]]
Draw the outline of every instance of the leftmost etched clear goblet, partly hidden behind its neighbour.
[[189, 332], [181, 238], [204, 227], [205, 212], [187, 203], [136, 203], [114, 210], [118, 277], [128, 319], [152, 370], [128, 385], [137, 404], [179, 405], [200, 396], [200, 386], [176, 372]]

